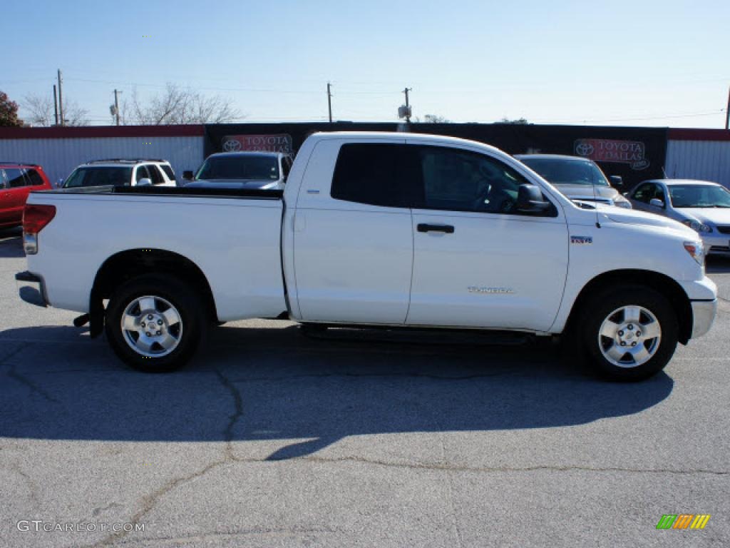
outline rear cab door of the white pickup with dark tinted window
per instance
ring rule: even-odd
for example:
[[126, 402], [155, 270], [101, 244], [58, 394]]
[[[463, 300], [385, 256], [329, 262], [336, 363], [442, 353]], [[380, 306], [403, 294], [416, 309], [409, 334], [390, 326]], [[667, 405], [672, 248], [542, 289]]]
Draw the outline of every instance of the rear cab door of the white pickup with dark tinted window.
[[302, 321], [404, 323], [413, 258], [404, 143], [374, 137], [316, 145], [293, 218]]

